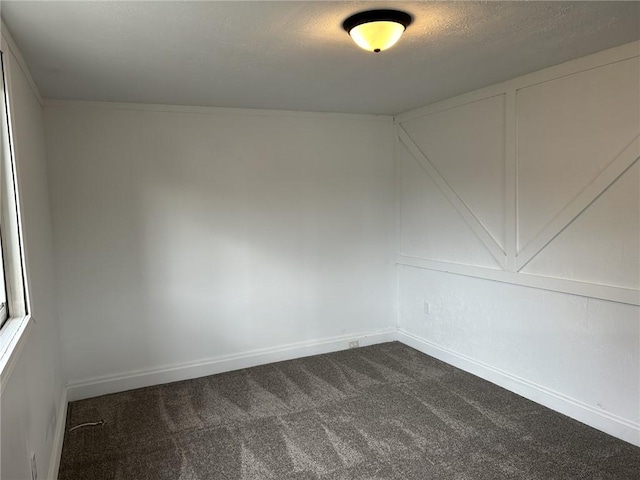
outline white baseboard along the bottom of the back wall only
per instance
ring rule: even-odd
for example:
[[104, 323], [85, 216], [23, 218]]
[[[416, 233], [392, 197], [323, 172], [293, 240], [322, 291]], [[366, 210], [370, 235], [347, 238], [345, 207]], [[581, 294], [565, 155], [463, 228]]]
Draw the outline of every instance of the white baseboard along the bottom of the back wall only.
[[213, 357], [198, 362], [73, 381], [67, 383], [67, 398], [72, 402], [109, 393], [124, 392], [134, 388], [205, 377], [216, 373], [308, 357], [310, 355], [337, 352], [349, 348], [349, 342], [353, 340], [358, 340], [362, 347], [392, 342], [396, 340], [396, 334], [397, 329], [395, 327], [376, 332], [350, 333], [321, 340]]

